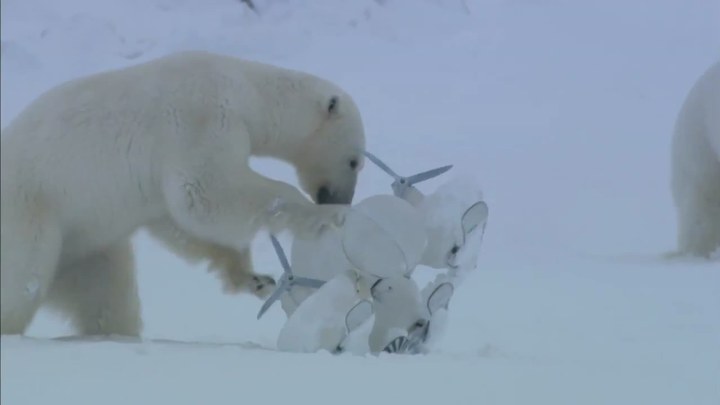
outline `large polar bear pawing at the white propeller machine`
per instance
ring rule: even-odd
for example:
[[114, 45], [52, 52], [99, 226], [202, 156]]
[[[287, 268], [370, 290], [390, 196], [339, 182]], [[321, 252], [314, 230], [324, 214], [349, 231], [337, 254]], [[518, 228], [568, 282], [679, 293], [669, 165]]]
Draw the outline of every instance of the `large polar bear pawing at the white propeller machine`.
[[[254, 235], [341, 225], [364, 148], [337, 85], [203, 51], [47, 91], [2, 133], [2, 334], [24, 333], [46, 304], [81, 334], [138, 336], [141, 228], [209, 260], [225, 290], [267, 296]], [[293, 165], [310, 198], [253, 171], [251, 156]]]

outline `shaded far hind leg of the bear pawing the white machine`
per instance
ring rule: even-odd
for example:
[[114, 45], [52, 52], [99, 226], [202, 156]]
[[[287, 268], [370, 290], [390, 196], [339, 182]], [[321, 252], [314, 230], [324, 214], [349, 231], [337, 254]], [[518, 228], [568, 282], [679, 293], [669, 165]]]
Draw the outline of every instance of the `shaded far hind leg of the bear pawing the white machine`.
[[46, 303], [68, 316], [81, 335], [139, 336], [142, 318], [130, 240], [60, 266]]

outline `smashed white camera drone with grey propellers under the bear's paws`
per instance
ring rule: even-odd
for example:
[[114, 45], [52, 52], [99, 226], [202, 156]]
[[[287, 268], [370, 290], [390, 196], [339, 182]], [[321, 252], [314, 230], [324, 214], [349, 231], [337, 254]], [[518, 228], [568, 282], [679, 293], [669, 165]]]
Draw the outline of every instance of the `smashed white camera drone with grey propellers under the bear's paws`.
[[[481, 243], [488, 215], [484, 201], [448, 199], [441, 190], [425, 196], [415, 187], [452, 166], [402, 177], [376, 156], [366, 156], [395, 179], [393, 195], [354, 204], [338, 231], [317, 240], [295, 239], [291, 261], [271, 235], [283, 275], [257, 317], [282, 300], [288, 322], [279, 347], [342, 353], [348, 337], [375, 315], [371, 352], [423, 352], [431, 320], [447, 311], [458, 282], [461, 266], [455, 258], [473, 250], [466, 248], [476, 246], [471, 239]], [[428, 219], [447, 206], [449, 216]], [[420, 264], [449, 271], [421, 292], [411, 277]]]

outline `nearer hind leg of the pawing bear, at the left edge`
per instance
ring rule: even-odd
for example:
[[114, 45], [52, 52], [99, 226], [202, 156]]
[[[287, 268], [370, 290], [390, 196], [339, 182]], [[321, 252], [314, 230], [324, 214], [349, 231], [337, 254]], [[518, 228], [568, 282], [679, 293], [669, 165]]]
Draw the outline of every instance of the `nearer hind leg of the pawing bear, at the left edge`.
[[47, 212], [3, 207], [0, 289], [1, 333], [25, 333], [42, 305], [62, 247], [60, 227]]

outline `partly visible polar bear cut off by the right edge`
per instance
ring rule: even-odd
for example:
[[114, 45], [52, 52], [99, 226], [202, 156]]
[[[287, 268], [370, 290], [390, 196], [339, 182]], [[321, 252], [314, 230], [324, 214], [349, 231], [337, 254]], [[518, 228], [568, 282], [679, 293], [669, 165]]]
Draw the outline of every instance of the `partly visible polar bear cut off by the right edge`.
[[720, 61], [702, 74], [680, 109], [671, 168], [677, 253], [710, 257], [720, 248]]

